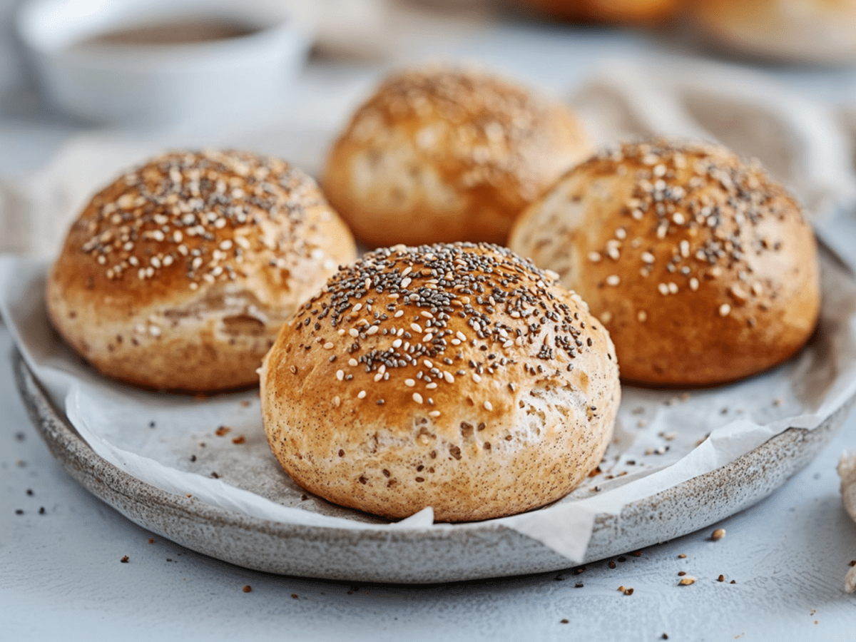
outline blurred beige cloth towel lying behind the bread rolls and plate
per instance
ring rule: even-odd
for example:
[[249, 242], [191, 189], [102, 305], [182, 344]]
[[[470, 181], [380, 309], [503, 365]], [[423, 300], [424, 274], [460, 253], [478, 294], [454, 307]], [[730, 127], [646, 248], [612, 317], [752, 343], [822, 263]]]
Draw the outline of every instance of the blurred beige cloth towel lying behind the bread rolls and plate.
[[[349, 94], [348, 100], [357, 99]], [[759, 158], [805, 205], [823, 240], [856, 263], [853, 135], [831, 106], [759, 72], [674, 58], [606, 62], [570, 99], [598, 145], [665, 134], [718, 140]], [[33, 175], [0, 177], [0, 252], [56, 253], [68, 224], [98, 187], [165, 146], [244, 146], [277, 153], [318, 175], [342, 114], [353, 107], [314, 110], [311, 127], [283, 117], [259, 123], [258, 131], [218, 132], [205, 140], [81, 135]]]

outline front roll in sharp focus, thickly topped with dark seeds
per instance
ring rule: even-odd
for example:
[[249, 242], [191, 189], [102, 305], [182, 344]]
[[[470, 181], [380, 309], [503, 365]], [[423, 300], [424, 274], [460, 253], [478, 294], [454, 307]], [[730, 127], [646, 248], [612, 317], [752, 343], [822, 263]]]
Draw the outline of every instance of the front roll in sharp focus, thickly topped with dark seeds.
[[261, 371], [270, 448], [301, 486], [388, 518], [485, 520], [562, 497], [621, 398], [609, 333], [504, 247], [393, 247], [339, 271]]

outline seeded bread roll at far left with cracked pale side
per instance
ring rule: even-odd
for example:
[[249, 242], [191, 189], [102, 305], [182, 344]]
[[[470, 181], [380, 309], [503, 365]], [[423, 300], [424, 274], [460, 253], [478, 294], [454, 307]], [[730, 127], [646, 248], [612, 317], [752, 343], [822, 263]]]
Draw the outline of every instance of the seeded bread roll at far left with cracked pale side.
[[348, 228], [311, 178], [249, 152], [175, 152], [96, 194], [47, 282], [51, 320], [100, 372], [154, 389], [247, 386], [340, 263]]

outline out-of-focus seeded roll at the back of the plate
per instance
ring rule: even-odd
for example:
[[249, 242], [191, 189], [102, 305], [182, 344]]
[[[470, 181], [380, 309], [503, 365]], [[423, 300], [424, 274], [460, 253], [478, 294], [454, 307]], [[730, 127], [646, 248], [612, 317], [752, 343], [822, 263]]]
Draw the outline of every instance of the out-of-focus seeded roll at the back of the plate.
[[371, 247], [504, 243], [520, 211], [592, 148], [562, 104], [489, 74], [395, 74], [330, 152], [324, 191]]

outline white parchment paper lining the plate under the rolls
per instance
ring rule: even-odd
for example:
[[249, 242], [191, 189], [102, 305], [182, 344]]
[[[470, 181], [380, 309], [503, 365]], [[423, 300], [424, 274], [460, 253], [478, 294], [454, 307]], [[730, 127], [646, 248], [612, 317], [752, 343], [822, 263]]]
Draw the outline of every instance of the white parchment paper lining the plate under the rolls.
[[[258, 390], [197, 398], [146, 392], [86, 366], [44, 305], [46, 264], [0, 259], [0, 314], [27, 365], [105, 460], [162, 490], [266, 520], [318, 527], [466, 528], [426, 508], [397, 524], [300, 489], [270, 454]], [[856, 282], [823, 259], [817, 334], [787, 364], [714, 389], [622, 389], [615, 438], [594, 474], [547, 508], [493, 520], [580, 562], [596, 514], [708, 473], [788, 427], [814, 428], [856, 394]]]

